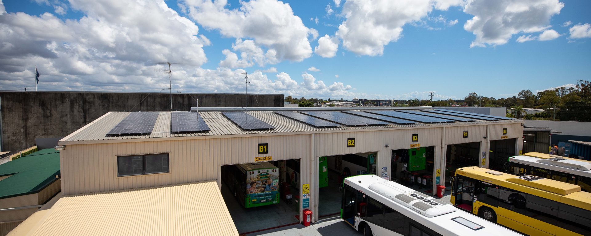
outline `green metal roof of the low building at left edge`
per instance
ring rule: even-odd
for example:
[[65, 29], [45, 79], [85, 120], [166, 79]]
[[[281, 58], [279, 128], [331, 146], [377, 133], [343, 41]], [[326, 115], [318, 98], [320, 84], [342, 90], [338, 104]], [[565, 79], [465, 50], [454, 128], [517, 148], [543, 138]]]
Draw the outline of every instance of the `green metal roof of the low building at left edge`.
[[60, 151], [41, 149], [0, 165], [0, 199], [35, 194], [56, 181], [60, 175]]

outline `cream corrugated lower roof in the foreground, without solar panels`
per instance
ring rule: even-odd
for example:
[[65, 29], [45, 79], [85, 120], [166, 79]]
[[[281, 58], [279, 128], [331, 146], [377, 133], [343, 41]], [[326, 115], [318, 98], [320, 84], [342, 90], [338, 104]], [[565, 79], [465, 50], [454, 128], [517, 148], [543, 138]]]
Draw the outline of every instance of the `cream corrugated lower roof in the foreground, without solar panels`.
[[216, 181], [62, 196], [28, 235], [238, 235]]

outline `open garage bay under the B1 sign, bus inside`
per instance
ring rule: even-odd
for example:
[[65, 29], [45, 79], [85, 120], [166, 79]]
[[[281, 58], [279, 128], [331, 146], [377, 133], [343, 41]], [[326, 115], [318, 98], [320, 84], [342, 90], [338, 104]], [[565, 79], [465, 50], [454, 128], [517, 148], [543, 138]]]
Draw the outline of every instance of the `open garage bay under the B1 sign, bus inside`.
[[[287, 194], [297, 196], [299, 192], [288, 186], [285, 163], [279, 160], [220, 166], [222, 196], [240, 234], [299, 222], [298, 203], [286, 198]], [[297, 165], [299, 171], [299, 162]], [[299, 173], [293, 174], [293, 181], [299, 182]]]

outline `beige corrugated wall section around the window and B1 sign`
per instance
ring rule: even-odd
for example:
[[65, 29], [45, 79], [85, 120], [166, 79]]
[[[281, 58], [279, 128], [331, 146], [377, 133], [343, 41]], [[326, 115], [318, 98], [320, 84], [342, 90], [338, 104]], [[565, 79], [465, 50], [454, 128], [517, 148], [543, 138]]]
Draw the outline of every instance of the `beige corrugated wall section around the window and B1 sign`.
[[[268, 143], [269, 153], [257, 155], [258, 143]], [[310, 135], [67, 145], [60, 152], [62, 191], [70, 195], [207, 181], [219, 178], [220, 165], [254, 162], [258, 156], [305, 158], [306, 150]], [[117, 177], [116, 156], [149, 153], [170, 153], [170, 173]]]

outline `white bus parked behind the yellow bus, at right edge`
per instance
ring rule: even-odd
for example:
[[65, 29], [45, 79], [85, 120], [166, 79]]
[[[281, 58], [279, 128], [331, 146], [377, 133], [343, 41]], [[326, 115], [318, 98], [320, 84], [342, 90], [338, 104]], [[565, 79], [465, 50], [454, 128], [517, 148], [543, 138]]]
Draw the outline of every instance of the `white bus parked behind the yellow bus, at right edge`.
[[534, 175], [546, 179], [554, 179], [565, 183], [581, 186], [586, 192], [591, 192], [591, 162], [561, 156], [545, 155], [512, 156], [509, 158], [509, 168], [506, 172], [513, 175]]

